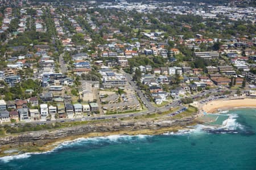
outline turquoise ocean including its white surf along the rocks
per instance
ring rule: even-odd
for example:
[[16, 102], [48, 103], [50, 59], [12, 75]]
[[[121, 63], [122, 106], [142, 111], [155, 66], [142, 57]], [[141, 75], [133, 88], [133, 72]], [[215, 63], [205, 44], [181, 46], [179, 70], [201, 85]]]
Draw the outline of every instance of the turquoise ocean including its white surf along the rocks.
[[52, 152], [0, 159], [0, 169], [256, 169], [256, 109], [224, 113], [220, 129], [66, 142]]

